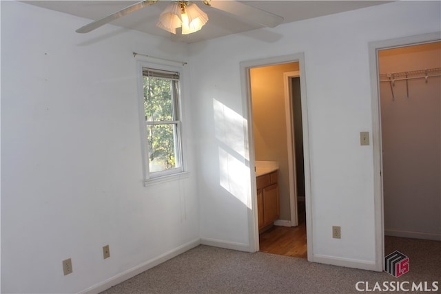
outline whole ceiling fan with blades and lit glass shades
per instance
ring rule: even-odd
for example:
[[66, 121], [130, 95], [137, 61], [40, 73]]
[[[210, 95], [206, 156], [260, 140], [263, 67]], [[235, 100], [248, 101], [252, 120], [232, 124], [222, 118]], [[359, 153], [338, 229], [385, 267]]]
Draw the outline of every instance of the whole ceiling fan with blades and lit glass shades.
[[[86, 33], [95, 30], [96, 28], [110, 23], [115, 19], [124, 17], [127, 14], [135, 12], [141, 8], [151, 6], [158, 0], [144, 0], [138, 3], [134, 3], [131, 6], [127, 6], [122, 10], [114, 12], [113, 14], [107, 15], [97, 21], [92, 21], [83, 27], [76, 30], [79, 33]], [[253, 23], [258, 23], [264, 25], [265, 27], [274, 28], [283, 22], [283, 17], [280, 17], [271, 12], [265, 10], [260, 10], [252, 6], [248, 6], [245, 3], [234, 1], [234, 0], [202, 0], [203, 4], [234, 14], [246, 21]], [[161, 13], [159, 21], [156, 24], [159, 28], [167, 30], [176, 34], [176, 28], [182, 27], [182, 34], [190, 34], [201, 30], [202, 26], [208, 21], [207, 14], [199, 9], [195, 3], [191, 1], [172, 1], [167, 8]]]

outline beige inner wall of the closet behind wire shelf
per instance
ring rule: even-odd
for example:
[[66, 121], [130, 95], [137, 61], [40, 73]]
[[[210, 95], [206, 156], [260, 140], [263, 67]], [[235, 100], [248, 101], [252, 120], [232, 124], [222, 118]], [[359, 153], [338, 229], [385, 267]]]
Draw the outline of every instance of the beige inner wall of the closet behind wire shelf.
[[429, 76], [441, 74], [430, 70], [441, 67], [441, 43], [382, 50], [378, 58], [384, 232], [441, 240], [441, 77], [390, 83], [382, 75], [426, 69]]

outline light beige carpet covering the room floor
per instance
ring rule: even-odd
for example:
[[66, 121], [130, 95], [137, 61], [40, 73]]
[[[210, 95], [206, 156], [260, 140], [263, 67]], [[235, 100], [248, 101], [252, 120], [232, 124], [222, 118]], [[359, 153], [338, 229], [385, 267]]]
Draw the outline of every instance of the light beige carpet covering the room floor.
[[409, 272], [398, 278], [301, 258], [197, 246], [103, 294], [359, 293], [355, 286], [358, 281], [369, 282], [369, 288], [384, 281], [427, 281], [430, 286], [438, 281], [441, 293], [441, 242], [387, 237], [385, 253], [395, 250], [409, 257]]

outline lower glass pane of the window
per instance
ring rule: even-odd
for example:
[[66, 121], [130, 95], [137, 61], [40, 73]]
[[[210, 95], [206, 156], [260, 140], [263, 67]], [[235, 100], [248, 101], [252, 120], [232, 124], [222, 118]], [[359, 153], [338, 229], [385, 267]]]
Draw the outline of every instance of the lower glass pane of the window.
[[176, 139], [176, 124], [147, 125], [150, 172], [179, 167]]

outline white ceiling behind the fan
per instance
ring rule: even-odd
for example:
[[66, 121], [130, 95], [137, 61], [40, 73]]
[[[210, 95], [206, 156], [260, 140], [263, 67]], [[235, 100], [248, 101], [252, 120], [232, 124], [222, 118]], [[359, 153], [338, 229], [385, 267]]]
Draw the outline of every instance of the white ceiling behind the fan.
[[[121, 10], [127, 6], [132, 5], [138, 1], [23, 1], [42, 8], [50, 10], [57, 10], [68, 14], [76, 15], [77, 17], [84, 17], [91, 21], [101, 19], [109, 14]], [[197, 41], [214, 39], [219, 36], [226, 36], [228, 34], [235, 34], [239, 32], [246, 32], [256, 28], [263, 28], [262, 25], [256, 23], [249, 23], [241, 20], [232, 14], [217, 10], [209, 6], [205, 6], [202, 1], [194, 1], [199, 8], [204, 10], [209, 17], [208, 23], [200, 30], [193, 34], [186, 36], [172, 36], [171, 33], [166, 32], [156, 27], [159, 14], [165, 9], [167, 3], [170, 1], [161, 0], [152, 6], [147, 6], [141, 10], [125, 15], [120, 19], [112, 21], [112, 25], [117, 25], [131, 30], [138, 30], [147, 32], [156, 36], [165, 36], [176, 41], [183, 41], [185, 43], [193, 43]], [[241, 1], [249, 6], [260, 8], [283, 17], [283, 23], [291, 23], [293, 21], [300, 21], [303, 19], [311, 19], [313, 17], [320, 17], [327, 14], [335, 14], [338, 12], [345, 12], [349, 10], [356, 10], [368, 6], [376, 6], [390, 1]], [[90, 21], [90, 22], [91, 22]], [[83, 25], [88, 24], [85, 21]], [[77, 28], [72, 28], [76, 30]], [[94, 33], [99, 33], [100, 28], [97, 28]], [[90, 33], [89, 33], [90, 34]]]

